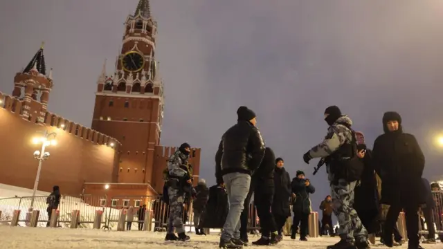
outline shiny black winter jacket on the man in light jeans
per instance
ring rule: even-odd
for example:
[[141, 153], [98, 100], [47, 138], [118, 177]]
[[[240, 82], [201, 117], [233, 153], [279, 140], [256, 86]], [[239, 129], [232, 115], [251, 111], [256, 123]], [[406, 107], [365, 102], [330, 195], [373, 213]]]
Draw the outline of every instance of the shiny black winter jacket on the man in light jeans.
[[224, 133], [215, 155], [217, 181], [225, 174], [252, 174], [262, 163], [264, 142], [251, 122], [238, 121]]

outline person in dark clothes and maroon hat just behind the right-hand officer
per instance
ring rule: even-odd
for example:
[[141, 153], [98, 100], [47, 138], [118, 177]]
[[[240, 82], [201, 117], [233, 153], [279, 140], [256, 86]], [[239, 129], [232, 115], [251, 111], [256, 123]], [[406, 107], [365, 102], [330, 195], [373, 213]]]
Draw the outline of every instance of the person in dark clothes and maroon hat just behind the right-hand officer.
[[363, 133], [356, 132], [358, 151], [364, 151], [363, 173], [361, 174], [360, 184], [354, 190], [354, 209], [359, 214], [361, 223], [368, 230], [369, 241], [375, 243], [375, 233], [377, 232], [379, 215], [379, 196], [377, 193], [377, 179], [375, 178], [374, 165], [372, 164], [372, 151], [365, 145]]

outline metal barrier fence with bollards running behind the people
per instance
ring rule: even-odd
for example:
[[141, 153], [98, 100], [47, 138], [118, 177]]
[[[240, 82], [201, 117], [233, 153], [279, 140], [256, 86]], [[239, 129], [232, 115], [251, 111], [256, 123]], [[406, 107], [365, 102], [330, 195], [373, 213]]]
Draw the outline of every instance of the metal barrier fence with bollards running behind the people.
[[[48, 210], [46, 198], [47, 196], [35, 196], [32, 209], [30, 203], [33, 197], [30, 196], [0, 199], [0, 223], [149, 231], [165, 230], [168, 223], [169, 205], [163, 202], [161, 196], [62, 196], [58, 210]], [[436, 233], [443, 235], [443, 191], [434, 191], [433, 199], [436, 204], [433, 208], [433, 225]], [[422, 219], [424, 215], [419, 217], [419, 233], [428, 234], [427, 225]], [[193, 220], [194, 212], [190, 201], [183, 205], [183, 221], [189, 231], [194, 227]], [[406, 235], [404, 214], [399, 216], [397, 224], [401, 233]], [[248, 229], [260, 229], [253, 201], [248, 213]], [[309, 236], [318, 236], [318, 230], [318, 213], [312, 212], [309, 217]]]

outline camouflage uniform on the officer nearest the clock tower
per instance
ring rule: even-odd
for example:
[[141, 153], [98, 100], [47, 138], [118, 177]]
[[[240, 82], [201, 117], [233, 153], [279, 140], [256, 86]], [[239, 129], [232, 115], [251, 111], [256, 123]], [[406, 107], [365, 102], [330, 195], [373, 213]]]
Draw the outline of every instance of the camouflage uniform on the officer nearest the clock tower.
[[169, 181], [176, 181], [177, 183], [168, 186], [170, 214], [168, 219], [168, 234], [174, 233], [174, 228], [177, 233], [185, 232], [183, 228], [183, 202], [185, 200], [185, 192], [182, 189], [181, 181], [186, 178], [188, 172], [181, 166], [186, 165], [188, 156], [177, 150], [171, 157], [168, 163]]

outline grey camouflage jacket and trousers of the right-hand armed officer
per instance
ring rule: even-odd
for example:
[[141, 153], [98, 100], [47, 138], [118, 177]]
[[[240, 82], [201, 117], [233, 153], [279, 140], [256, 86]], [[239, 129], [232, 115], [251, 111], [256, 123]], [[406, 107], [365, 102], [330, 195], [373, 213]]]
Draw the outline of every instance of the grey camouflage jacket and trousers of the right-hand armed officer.
[[[330, 156], [343, 144], [352, 141], [352, 131], [348, 128], [352, 125], [352, 120], [347, 116], [341, 116], [328, 129], [325, 140], [309, 151], [311, 158], [324, 158]], [[352, 207], [354, 204], [354, 188], [356, 181], [348, 183], [344, 179], [337, 179], [330, 170], [327, 163], [328, 179], [331, 185], [332, 208], [337, 216], [340, 228], [338, 234], [342, 240], [352, 243], [356, 241], [365, 243], [368, 232], [363, 227], [359, 216]]]

